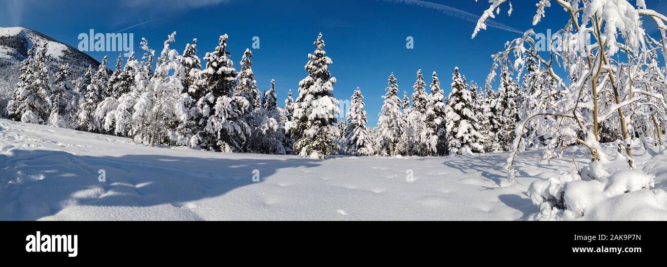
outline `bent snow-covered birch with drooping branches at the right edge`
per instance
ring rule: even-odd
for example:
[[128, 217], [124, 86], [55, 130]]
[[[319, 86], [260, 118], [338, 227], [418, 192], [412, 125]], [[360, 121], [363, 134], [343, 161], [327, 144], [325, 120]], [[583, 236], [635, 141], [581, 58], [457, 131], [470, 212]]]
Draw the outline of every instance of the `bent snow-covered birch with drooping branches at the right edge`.
[[[478, 21], [474, 35], [486, 27], [486, 21], [493, 17], [493, 12], [507, 0], [491, 3], [489, 9]], [[633, 5], [626, 0], [564, 0], [553, 1], [566, 11], [566, 27], [558, 31], [562, 37], [560, 49], [542, 53], [544, 41], [539, 41], [534, 31], [527, 31], [518, 39], [506, 43], [506, 49], [494, 55], [494, 68], [490, 79], [496, 76], [494, 70], [499, 66], [509, 66], [515, 73], [526, 70], [533, 58], [539, 65], [538, 72], [547, 74], [556, 84], [556, 90], [545, 86], [548, 93], [540, 94], [536, 108], [524, 120], [516, 125], [514, 141], [511, 142], [512, 156], [508, 159], [507, 169], [510, 181], [515, 181], [516, 172], [512, 163], [521, 151], [522, 139], [526, 135], [529, 122], [537, 120], [544, 130], [550, 133], [550, 144], [546, 146], [546, 158], [562, 155], [562, 147], [578, 143], [590, 151], [590, 157], [598, 165], [604, 158], [600, 149], [601, 126], [617, 128], [623, 145], [628, 166], [634, 168], [632, 155], [632, 110], [644, 100], [655, 101], [658, 106], [667, 106], [664, 98], [664, 84], [646, 88], [640, 84], [660, 84], [650, 80], [646, 73], [663, 73], [658, 62], [650, 54], [662, 52], [667, 44], [664, 30], [651, 37], [644, 29], [648, 21], [653, 21], [662, 29], [667, 19], [664, 15], [648, 9], [645, 1], [636, 1]], [[544, 7], [552, 1], [542, 0], [534, 17], [536, 25], [544, 17]], [[648, 19], [648, 21], [644, 20]], [[622, 56], [620, 56], [622, 54]], [[560, 64], [553, 64], [559, 62]], [[562, 71], [557, 68], [562, 66]], [[562, 76], [560, 73], [565, 73]], [[664, 75], [659, 75], [664, 80]], [[509, 80], [501, 76], [501, 84]], [[511, 81], [511, 80], [510, 80]], [[626, 81], [626, 82], [624, 82]], [[507, 84], [507, 82], [506, 82]], [[510, 87], [514, 86], [510, 83]], [[660, 92], [662, 91], [662, 92]], [[512, 96], [498, 100], [506, 102]], [[520, 97], [520, 96], [519, 96]], [[511, 103], [510, 103], [511, 104]], [[500, 112], [498, 112], [500, 114]], [[512, 110], [502, 112], [502, 116], [511, 118]], [[616, 122], [613, 122], [616, 121]], [[507, 132], [507, 129], [500, 132]], [[499, 133], [502, 135], [502, 133]]]

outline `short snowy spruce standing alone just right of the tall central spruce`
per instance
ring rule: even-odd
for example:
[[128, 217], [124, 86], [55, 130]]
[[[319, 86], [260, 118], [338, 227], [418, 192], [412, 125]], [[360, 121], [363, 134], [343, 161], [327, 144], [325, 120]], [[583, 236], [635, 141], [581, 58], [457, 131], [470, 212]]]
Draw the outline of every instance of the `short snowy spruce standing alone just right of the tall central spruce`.
[[348, 126], [345, 137], [347, 140], [346, 154], [348, 155], [374, 154], [372, 142], [370, 141], [371, 138], [366, 129], [368, 119], [366, 118], [366, 110], [364, 110], [365, 106], [362, 91], [357, 87], [350, 100], [350, 112], [346, 116]]

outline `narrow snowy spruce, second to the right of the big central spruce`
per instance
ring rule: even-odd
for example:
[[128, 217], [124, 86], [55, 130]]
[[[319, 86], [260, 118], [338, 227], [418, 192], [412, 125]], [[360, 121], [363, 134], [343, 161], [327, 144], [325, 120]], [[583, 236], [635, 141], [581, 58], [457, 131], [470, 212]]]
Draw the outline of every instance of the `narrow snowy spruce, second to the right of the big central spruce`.
[[389, 76], [387, 93], [383, 96], [384, 104], [378, 118], [380, 155], [397, 155], [397, 143], [402, 135], [402, 102], [398, 96], [398, 83], [394, 73]]

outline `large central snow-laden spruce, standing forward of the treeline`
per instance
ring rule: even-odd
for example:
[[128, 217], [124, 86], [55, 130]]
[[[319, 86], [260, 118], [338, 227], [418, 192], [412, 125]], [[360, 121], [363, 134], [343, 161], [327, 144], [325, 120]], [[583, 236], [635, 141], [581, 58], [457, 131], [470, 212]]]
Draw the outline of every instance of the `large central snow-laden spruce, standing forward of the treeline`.
[[299, 157], [323, 159], [337, 149], [334, 138], [340, 135], [336, 128], [338, 100], [333, 96], [333, 84], [328, 66], [322, 34], [317, 36], [315, 52], [308, 54], [305, 70], [308, 72], [299, 82], [299, 97], [293, 105], [293, 122], [287, 124], [287, 132], [295, 140], [294, 152]]

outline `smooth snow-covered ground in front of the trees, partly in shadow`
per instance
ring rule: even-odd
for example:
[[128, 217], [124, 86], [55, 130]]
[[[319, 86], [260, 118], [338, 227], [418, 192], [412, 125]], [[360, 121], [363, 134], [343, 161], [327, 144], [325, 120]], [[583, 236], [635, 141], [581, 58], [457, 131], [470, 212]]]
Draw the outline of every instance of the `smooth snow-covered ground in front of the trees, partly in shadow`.
[[[573, 152], [585, 164], [572, 149], [551, 163], [523, 153], [518, 184], [501, 187], [506, 153], [320, 161], [0, 120], [0, 220], [525, 220], [539, 211], [530, 183], [572, 171]], [[649, 165], [667, 189], [667, 167]]]

